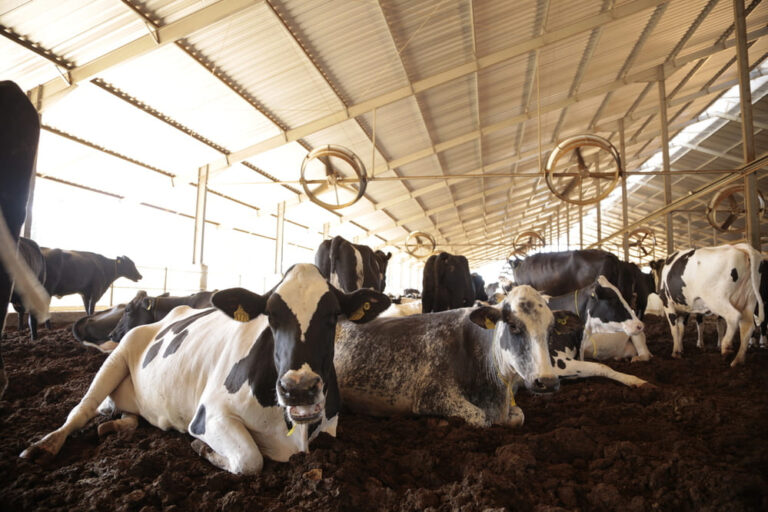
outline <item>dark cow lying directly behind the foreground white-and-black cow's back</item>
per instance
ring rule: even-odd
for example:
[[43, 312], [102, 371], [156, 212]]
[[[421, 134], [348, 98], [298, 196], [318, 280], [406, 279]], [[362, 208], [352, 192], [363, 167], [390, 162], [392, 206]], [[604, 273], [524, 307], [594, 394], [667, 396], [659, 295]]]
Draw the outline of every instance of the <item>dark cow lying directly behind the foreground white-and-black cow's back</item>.
[[120, 343], [123, 336], [134, 327], [162, 320], [177, 306], [189, 306], [193, 309], [209, 307], [214, 293], [201, 291], [185, 297], [148, 297], [147, 292], [140, 290], [131, 302], [125, 305], [125, 312], [109, 333], [109, 339]]

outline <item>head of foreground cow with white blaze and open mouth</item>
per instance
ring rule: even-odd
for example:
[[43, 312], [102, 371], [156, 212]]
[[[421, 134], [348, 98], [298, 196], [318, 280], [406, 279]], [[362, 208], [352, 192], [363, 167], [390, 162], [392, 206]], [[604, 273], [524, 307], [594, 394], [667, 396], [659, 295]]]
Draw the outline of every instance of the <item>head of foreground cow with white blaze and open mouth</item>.
[[294, 423], [322, 418], [329, 387], [336, 387], [333, 342], [341, 315], [357, 323], [376, 318], [389, 298], [364, 288], [339, 291], [314, 265], [298, 264], [264, 295], [242, 288], [213, 295], [215, 307], [238, 321], [266, 315], [274, 339], [277, 401]]

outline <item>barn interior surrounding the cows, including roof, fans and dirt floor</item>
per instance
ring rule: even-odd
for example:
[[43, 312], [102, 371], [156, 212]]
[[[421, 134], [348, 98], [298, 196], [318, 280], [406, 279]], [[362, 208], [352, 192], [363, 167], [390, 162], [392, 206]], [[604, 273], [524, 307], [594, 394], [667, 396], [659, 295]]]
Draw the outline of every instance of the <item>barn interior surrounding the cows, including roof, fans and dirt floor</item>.
[[[23, 236], [143, 275], [100, 310], [264, 292], [336, 235], [393, 254], [393, 295], [437, 251], [486, 282], [537, 252], [645, 271], [687, 247], [768, 254], [762, 0], [4, 0], [0, 35], [0, 80], [41, 120]], [[346, 415], [249, 478], [145, 421], [20, 459], [106, 356], [69, 323], [30, 342], [9, 319], [0, 509], [768, 509], [768, 351], [730, 368], [709, 318], [674, 359], [646, 318], [653, 359], [610, 365], [655, 387], [521, 393], [520, 429]]]

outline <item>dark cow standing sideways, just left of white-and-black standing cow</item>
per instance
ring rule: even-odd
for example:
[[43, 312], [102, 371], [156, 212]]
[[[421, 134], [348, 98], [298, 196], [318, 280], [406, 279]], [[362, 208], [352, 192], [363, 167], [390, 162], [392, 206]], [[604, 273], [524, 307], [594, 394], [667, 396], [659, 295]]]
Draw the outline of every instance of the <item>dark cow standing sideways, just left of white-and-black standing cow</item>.
[[588, 286], [597, 276], [604, 275], [628, 302], [634, 304], [633, 309], [641, 320], [648, 295], [653, 291], [649, 274], [643, 273], [637, 265], [622, 262], [615, 255], [599, 249], [538, 253], [524, 260], [510, 260], [510, 265], [515, 282], [531, 285], [552, 296]]

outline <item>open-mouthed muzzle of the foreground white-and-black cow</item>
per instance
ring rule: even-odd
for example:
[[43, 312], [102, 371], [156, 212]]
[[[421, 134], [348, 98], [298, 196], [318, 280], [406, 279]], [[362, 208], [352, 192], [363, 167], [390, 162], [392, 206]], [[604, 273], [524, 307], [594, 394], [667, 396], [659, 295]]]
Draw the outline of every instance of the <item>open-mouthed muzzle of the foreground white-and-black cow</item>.
[[312, 371], [286, 372], [277, 381], [277, 396], [294, 423], [314, 423], [325, 409], [323, 380]]

